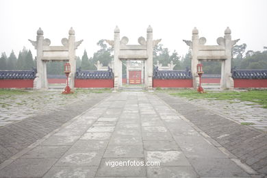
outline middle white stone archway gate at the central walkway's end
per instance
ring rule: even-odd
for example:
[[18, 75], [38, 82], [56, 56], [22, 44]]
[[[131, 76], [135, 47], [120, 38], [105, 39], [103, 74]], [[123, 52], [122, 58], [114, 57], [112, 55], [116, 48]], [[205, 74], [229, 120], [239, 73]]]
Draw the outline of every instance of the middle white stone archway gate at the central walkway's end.
[[153, 88], [153, 47], [160, 40], [153, 40], [153, 29], [147, 28], [147, 40], [144, 37], [138, 38], [137, 45], [127, 44], [128, 38], [124, 36], [120, 40], [120, 29], [114, 29], [114, 40], [106, 42], [114, 47], [114, 89], [118, 90], [123, 86], [123, 72], [121, 60], [143, 60], [144, 61], [144, 86], [146, 89]]

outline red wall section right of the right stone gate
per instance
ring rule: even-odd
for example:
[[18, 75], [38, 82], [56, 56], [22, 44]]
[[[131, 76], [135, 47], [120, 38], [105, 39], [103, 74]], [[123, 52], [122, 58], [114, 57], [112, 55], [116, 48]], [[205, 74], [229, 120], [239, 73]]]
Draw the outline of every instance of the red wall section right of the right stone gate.
[[267, 88], [267, 79], [233, 79], [234, 88]]

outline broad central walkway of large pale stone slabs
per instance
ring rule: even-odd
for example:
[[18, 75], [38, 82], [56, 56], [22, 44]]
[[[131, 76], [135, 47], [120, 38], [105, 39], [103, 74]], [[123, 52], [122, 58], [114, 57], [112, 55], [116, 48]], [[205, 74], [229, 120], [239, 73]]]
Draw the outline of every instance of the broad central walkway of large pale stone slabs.
[[[107, 166], [115, 161], [160, 166]], [[149, 92], [112, 93], [0, 165], [0, 177], [251, 177], [246, 172], [255, 173]]]

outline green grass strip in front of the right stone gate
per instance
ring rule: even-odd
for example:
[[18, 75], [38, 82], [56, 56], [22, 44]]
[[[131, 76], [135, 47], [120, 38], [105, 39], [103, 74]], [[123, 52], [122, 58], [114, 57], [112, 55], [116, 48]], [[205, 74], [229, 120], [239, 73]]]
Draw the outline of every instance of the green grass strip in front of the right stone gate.
[[220, 92], [206, 92], [200, 94], [196, 90], [181, 90], [170, 93], [173, 96], [186, 97], [190, 99], [216, 99], [216, 100], [235, 100], [251, 101], [267, 108], [267, 90], [249, 90], [249, 91], [220, 91]]

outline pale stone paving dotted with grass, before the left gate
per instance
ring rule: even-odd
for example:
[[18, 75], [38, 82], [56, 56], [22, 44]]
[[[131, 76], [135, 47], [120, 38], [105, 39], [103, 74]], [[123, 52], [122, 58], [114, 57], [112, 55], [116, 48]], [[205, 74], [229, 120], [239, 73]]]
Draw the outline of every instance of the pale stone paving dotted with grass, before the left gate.
[[92, 93], [76, 90], [74, 94], [60, 94], [60, 90], [24, 90], [24, 94], [0, 95], [0, 127], [19, 120], [47, 114], [70, 103], [90, 98]]

